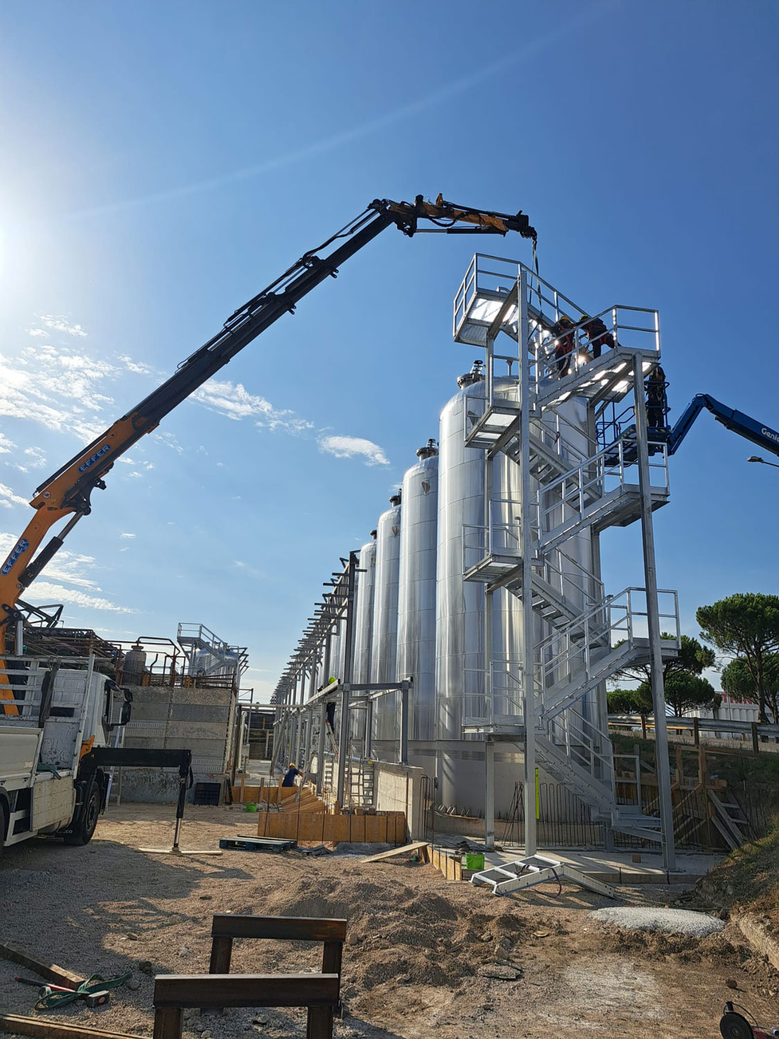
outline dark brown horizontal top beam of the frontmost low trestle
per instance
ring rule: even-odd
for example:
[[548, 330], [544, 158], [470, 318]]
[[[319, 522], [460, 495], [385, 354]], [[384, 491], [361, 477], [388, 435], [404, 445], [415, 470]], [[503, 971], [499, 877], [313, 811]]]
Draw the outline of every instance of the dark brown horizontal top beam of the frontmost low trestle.
[[338, 975], [159, 975], [155, 1007], [325, 1007], [339, 1001]]

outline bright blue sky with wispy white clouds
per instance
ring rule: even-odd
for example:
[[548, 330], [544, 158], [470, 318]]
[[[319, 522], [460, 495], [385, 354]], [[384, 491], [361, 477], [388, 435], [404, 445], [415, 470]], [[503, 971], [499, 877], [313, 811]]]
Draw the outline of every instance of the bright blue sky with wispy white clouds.
[[[521, 208], [562, 291], [660, 310], [672, 419], [708, 392], [779, 426], [778, 10], [8, 0], [3, 543], [90, 430], [376, 196]], [[37, 601], [109, 638], [203, 621], [267, 696], [474, 359], [451, 340], [472, 251], [386, 231], [115, 465]], [[777, 590], [753, 450], [705, 415], [672, 460], [659, 578], [691, 634], [698, 605]], [[643, 584], [638, 538], [605, 537], [609, 590]]]

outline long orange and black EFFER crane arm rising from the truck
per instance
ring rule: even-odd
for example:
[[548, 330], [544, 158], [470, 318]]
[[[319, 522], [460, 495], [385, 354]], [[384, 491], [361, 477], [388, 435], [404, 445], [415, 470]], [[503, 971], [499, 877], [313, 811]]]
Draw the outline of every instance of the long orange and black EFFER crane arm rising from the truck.
[[[433, 227], [418, 228], [420, 220], [428, 220]], [[418, 195], [413, 203], [374, 199], [359, 216], [318, 248], [304, 254], [275, 282], [239, 308], [220, 331], [187, 357], [166, 382], [41, 484], [30, 502], [35, 513], [0, 567], [0, 635], [5, 635], [11, 621], [21, 618], [17, 602], [24, 589], [61, 548], [79, 520], [91, 511], [91, 492], [96, 487], [105, 489], [103, 477], [115, 459], [141, 436], [152, 432], [168, 411], [186, 400], [283, 314], [293, 313], [312, 289], [327, 277], [335, 277], [344, 261], [392, 224], [409, 238], [418, 231], [498, 235], [516, 231], [523, 238], [531, 238], [534, 248], [536, 244], [536, 232], [521, 210], [512, 216], [471, 209], [445, 202], [440, 195], [434, 203], [426, 202], [422, 195]], [[328, 255], [318, 255], [330, 246], [333, 247]], [[59, 533], [38, 551], [50, 528], [68, 516], [70, 518]], [[0, 639], [0, 657], [3, 647], [4, 639]], [[14, 695], [0, 660], [2, 699], [14, 699]], [[17, 708], [7, 705], [4, 711], [16, 714]]]

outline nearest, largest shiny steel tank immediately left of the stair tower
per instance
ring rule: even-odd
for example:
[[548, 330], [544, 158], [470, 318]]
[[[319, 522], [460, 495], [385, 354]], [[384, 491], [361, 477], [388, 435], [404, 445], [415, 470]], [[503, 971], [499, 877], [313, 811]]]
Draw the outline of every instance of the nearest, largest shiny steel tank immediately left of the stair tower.
[[[484, 586], [465, 581], [465, 565], [484, 544], [484, 451], [465, 447], [465, 431], [484, 412], [485, 384], [478, 371], [458, 379], [459, 390], [440, 415], [438, 456], [436, 739], [437, 800], [460, 811], [484, 808], [484, 750], [481, 739], [463, 737], [465, 718], [486, 714], [485, 667], [494, 662], [495, 713], [518, 714], [521, 704], [509, 673], [521, 661], [521, 604], [510, 592], [493, 596], [492, 660], [485, 660]], [[495, 397], [514, 398], [515, 379], [495, 379]], [[501, 454], [493, 463], [493, 524], [508, 532], [520, 508], [519, 467]], [[464, 545], [463, 545], [464, 532]], [[508, 536], [508, 534], [507, 534]], [[506, 691], [511, 695], [506, 695]], [[506, 810], [520, 778], [518, 748], [496, 756], [495, 806]], [[517, 751], [517, 753], [514, 753]], [[504, 805], [505, 802], [505, 805]]]

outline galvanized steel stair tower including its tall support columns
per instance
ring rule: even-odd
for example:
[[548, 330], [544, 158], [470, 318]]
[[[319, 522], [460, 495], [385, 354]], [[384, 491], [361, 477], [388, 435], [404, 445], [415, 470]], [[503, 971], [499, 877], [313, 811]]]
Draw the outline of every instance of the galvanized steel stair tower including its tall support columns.
[[[669, 616], [675, 623], [672, 640], [661, 640], [659, 589], [654, 559], [652, 511], [668, 501], [667, 448], [647, 438], [644, 377], [660, 358], [660, 324], [655, 311], [615, 305], [599, 315], [608, 323], [612, 346], [590, 356], [575, 348], [560, 365], [554, 353], [554, 331], [563, 309], [584, 314], [559, 290], [518, 261], [477, 254], [454, 299], [453, 334], [456, 342], [485, 349], [485, 398], [480, 416], [466, 419], [465, 444], [485, 452], [484, 527], [473, 560], [473, 539], [463, 530], [465, 580], [484, 584], [484, 713], [465, 719], [463, 734], [479, 735], [485, 748], [485, 843], [494, 846], [494, 742], [518, 743], [525, 752], [526, 854], [536, 854], [536, 762], [555, 778], [571, 787], [589, 804], [596, 818], [618, 828], [659, 841], [666, 869], [674, 867], [670, 769], [668, 766], [663, 658], [679, 646], [678, 607], [675, 592]], [[649, 326], [646, 318], [649, 316]], [[512, 352], [500, 352], [496, 342], [507, 335]], [[643, 336], [646, 341], [639, 340]], [[620, 342], [620, 337], [624, 343]], [[630, 345], [627, 345], [628, 339]], [[637, 342], [638, 341], [638, 342]], [[517, 379], [515, 399], [496, 396], [495, 366], [505, 365]], [[516, 367], [514, 367], [516, 366]], [[597, 420], [609, 404], [634, 398], [635, 427], [629, 436], [602, 449]], [[582, 457], [567, 450], [567, 420], [560, 407], [571, 398], [587, 400], [588, 450]], [[572, 428], [572, 427], [571, 427]], [[541, 431], [539, 434], [539, 430]], [[554, 435], [547, 435], [554, 434]], [[628, 443], [629, 441], [629, 443]], [[492, 515], [492, 463], [507, 454], [520, 469], [521, 490], [515, 525], [498, 529]], [[660, 456], [660, 460], [657, 460]], [[652, 461], [650, 462], [650, 457]], [[616, 469], [615, 469], [616, 465]], [[638, 484], [626, 479], [638, 469]], [[654, 473], [652, 472], [654, 471]], [[662, 471], [662, 482], [652, 476]], [[609, 477], [615, 478], [607, 491]], [[534, 494], [532, 481], [538, 490]], [[564, 522], [549, 529], [544, 499], [552, 498], [556, 514]], [[606, 596], [599, 582], [599, 534], [611, 526], [641, 521], [645, 589], [626, 589], [626, 649], [617, 651], [614, 612], [618, 596]], [[508, 530], [507, 527], [512, 529]], [[500, 527], [500, 525], [499, 525]], [[555, 588], [549, 576], [550, 554], [576, 532], [587, 530], [592, 545], [594, 572], [583, 572], [591, 602], [584, 613], [571, 609], [565, 587]], [[472, 532], [473, 534], [473, 532]], [[468, 565], [469, 563], [469, 565]], [[553, 569], [554, 563], [552, 564]], [[562, 571], [562, 563], [557, 567]], [[500, 661], [493, 654], [493, 604], [499, 588], [509, 588], [521, 603], [522, 659]], [[642, 592], [645, 611], [632, 600]], [[552, 629], [539, 644], [536, 615]], [[641, 618], [646, 637], [637, 635]], [[617, 628], [619, 625], [616, 625]], [[562, 646], [562, 649], [560, 648]], [[544, 657], [553, 655], [554, 667], [544, 670]], [[657, 762], [661, 819], [632, 816], [617, 804], [606, 708], [606, 680], [627, 663], [648, 662], [652, 674], [654, 714], [657, 721]], [[503, 669], [506, 688], [502, 700], [514, 709], [509, 716], [494, 712], [495, 674]], [[563, 672], [564, 677], [555, 681]], [[588, 694], [596, 696], [597, 717], [588, 716]], [[577, 709], [577, 704], [581, 708]], [[599, 724], [600, 722], [603, 724]]]

